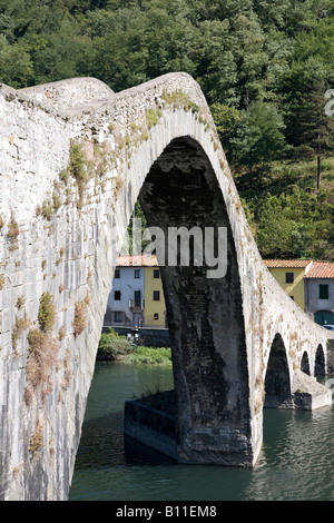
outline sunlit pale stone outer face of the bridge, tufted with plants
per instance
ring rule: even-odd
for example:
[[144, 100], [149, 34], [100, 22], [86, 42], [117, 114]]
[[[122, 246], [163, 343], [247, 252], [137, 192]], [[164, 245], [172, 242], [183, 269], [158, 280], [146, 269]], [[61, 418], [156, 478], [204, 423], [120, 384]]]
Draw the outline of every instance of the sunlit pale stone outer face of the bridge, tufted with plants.
[[[245, 460], [254, 463], [276, 333], [291, 381], [304, 352], [314, 368], [316, 348], [322, 344], [326, 352], [332, 335], [314, 326], [264, 267], [198, 85], [185, 73], [121, 93], [94, 80], [22, 91], [2, 85], [0, 117], [0, 499], [67, 499], [122, 235], [151, 166], [185, 136], [198, 144], [199, 157], [215, 174], [240, 289], [238, 365], [246, 396], [242, 418], [222, 430], [220, 443], [247, 448]], [[206, 310], [213, 354], [191, 362], [200, 373], [210, 357], [227, 369], [236, 364], [234, 352], [222, 345], [215, 304], [213, 294]], [[180, 316], [175, 303], [174, 326]], [[179, 345], [174, 365], [183, 376]], [[233, 368], [228, 391], [237, 403], [239, 371]], [[189, 387], [185, 381], [178, 392], [184, 427], [190, 420]], [[199, 446], [215, 443], [216, 425], [213, 420], [213, 427], [185, 432], [185, 445], [196, 438]], [[191, 448], [185, 452], [189, 460]]]

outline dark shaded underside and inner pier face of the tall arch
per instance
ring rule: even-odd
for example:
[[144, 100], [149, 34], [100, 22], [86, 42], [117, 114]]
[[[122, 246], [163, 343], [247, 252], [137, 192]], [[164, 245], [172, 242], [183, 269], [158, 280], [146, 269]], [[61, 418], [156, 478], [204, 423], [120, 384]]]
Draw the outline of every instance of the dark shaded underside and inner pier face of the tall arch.
[[[173, 354], [179, 461], [250, 465], [237, 255], [222, 189], [202, 146], [190, 137], [171, 140], [147, 174], [139, 203], [148, 226], [154, 231], [158, 228], [164, 238], [164, 248], [156, 254]], [[206, 233], [214, 234], [210, 259], [204, 256], [198, 263], [198, 238], [191, 233], [187, 245], [178, 239], [170, 263], [170, 231], [180, 227], [200, 230], [203, 245]], [[226, 230], [226, 274], [210, 278], [213, 259], [217, 262], [222, 254], [217, 250], [219, 228]], [[185, 248], [188, 263], [181, 262]]]

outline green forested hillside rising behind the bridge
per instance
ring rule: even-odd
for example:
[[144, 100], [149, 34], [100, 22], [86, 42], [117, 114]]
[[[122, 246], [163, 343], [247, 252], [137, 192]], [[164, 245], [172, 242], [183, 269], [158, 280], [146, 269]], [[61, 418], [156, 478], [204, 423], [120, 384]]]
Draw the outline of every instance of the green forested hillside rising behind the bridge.
[[334, 259], [333, 65], [334, 0], [0, 0], [14, 88], [189, 72], [264, 257]]

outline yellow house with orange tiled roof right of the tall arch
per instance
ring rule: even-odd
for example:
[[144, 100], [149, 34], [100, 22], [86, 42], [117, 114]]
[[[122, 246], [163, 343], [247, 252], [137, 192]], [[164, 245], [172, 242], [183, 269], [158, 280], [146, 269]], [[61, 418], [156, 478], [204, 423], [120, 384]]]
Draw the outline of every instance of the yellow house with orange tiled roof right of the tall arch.
[[288, 296], [305, 310], [304, 277], [313, 265], [312, 259], [265, 259], [274, 278]]

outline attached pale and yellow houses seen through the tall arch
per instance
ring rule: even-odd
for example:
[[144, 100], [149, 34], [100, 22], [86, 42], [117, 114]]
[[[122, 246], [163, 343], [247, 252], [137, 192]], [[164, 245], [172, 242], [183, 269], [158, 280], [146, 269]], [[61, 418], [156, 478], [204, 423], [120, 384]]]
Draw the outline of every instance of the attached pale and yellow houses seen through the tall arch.
[[156, 256], [118, 257], [104, 325], [166, 326], [166, 305]]

